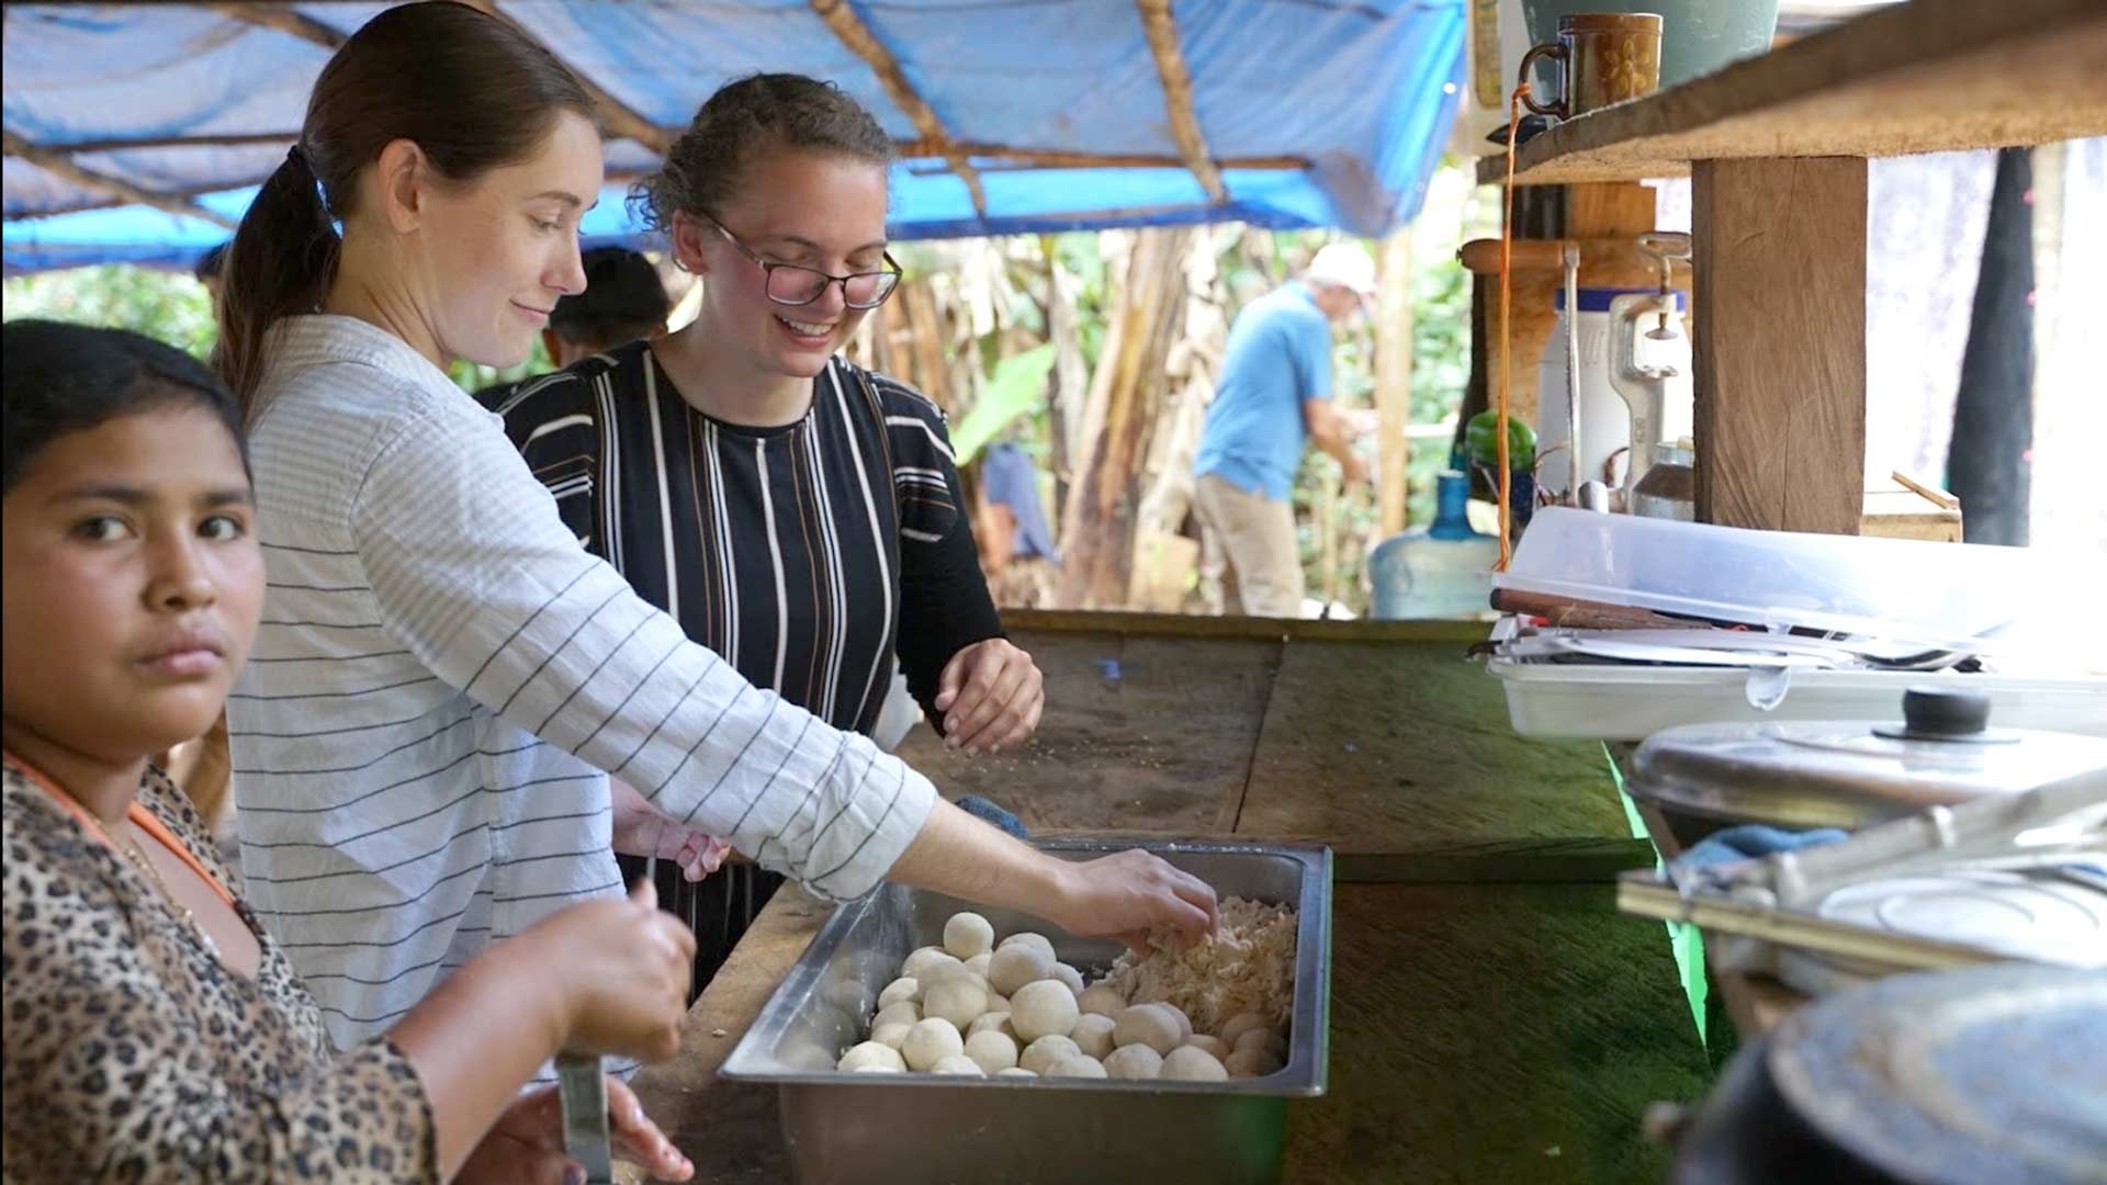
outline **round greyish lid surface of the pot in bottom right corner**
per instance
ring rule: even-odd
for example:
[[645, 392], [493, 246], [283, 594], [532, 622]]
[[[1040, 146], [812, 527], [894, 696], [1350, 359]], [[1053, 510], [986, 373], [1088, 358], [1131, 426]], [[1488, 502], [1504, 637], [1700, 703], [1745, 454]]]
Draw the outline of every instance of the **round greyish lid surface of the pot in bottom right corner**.
[[2073, 1185], [2107, 1164], [2107, 976], [1993, 964], [1892, 976], [1774, 1031], [1793, 1111], [1924, 1183]]

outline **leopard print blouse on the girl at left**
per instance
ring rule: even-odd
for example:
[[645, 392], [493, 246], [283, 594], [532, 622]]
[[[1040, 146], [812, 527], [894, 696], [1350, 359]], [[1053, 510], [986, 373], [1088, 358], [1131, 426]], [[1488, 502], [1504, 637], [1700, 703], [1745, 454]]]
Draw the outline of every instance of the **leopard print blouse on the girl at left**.
[[[386, 1040], [337, 1054], [284, 951], [230, 972], [154, 886], [13, 768], [4, 789], [0, 1181], [436, 1181], [432, 1107]], [[139, 801], [219, 883], [160, 770]]]

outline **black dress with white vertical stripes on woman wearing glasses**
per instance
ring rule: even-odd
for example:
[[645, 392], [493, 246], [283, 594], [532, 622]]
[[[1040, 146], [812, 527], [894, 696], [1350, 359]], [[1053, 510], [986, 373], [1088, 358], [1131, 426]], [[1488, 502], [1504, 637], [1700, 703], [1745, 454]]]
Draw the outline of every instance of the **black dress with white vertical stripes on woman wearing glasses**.
[[[693, 409], [632, 342], [480, 399], [588, 550], [834, 727], [872, 730], [895, 654], [938, 719], [944, 664], [1001, 635], [944, 413], [900, 382], [834, 358], [803, 420], [748, 428]], [[697, 991], [773, 888], [662, 869], [662, 900], [695, 926]]]

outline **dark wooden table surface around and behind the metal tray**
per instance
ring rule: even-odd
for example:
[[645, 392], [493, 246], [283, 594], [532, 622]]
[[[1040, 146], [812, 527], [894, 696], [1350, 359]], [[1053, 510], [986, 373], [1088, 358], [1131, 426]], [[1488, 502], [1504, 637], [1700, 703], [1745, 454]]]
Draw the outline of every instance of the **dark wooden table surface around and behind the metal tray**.
[[[902, 755], [1035, 833], [1315, 839], [1338, 852], [1330, 1090], [1289, 1107], [1285, 1181], [1658, 1179], [1656, 1099], [1707, 1061], [1652, 865], [1593, 744], [1507, 730], [1477, 626], [1007, 616], [1047, 675], [1018, 755], [917, 730]], [[1110, 666], [1117, 664], [1117, 666]], [[828, 909], [786, 888], [636, 1080], [700, 1181], [788, 1181], [775, 1092], [716, 1080]]]

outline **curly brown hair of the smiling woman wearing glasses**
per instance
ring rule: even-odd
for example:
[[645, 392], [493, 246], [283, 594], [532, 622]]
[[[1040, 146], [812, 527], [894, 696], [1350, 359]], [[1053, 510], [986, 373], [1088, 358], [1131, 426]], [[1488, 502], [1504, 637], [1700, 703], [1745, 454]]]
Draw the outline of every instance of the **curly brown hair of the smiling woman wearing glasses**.
[[630, 207], [651, 230], [672, 232], [681, 211], [714, 217], [740, 190], [756, 156], [794, 148], [891, 164], [893, 141], [841, 86], [803, 74], [750, 74], [716, 89], [666, 164], [630, 190]]

